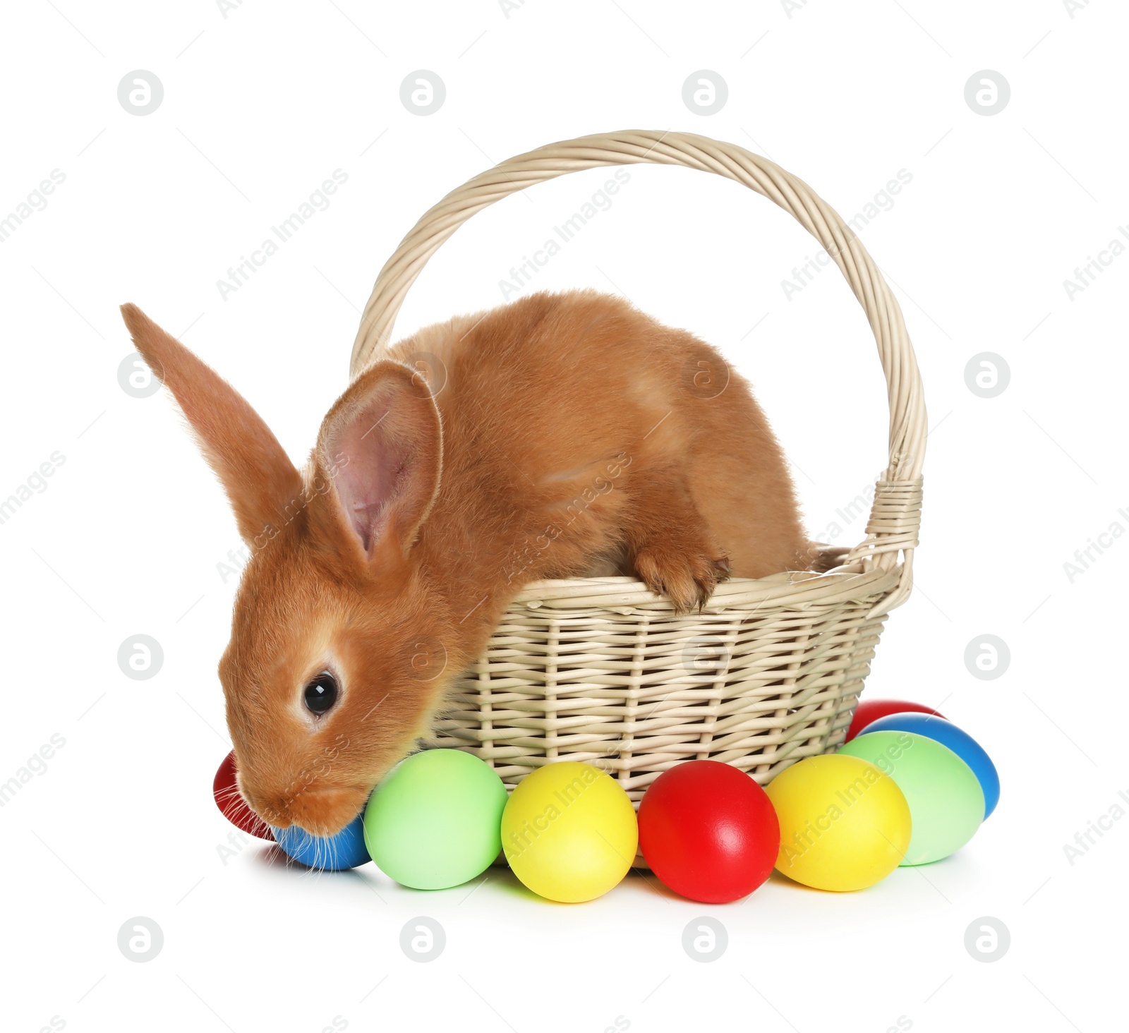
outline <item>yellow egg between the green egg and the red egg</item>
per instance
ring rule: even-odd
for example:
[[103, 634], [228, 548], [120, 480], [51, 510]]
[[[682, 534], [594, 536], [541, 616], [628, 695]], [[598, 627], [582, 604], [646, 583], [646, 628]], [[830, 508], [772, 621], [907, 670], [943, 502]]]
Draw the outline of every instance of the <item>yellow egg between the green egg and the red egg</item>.
[[634, 860], [639, 826], [619, 783], [592, 764], [559, 761], [526, 776], [501, 816], [501, 847], [534, 893], [562, 903], [602, 896]]

